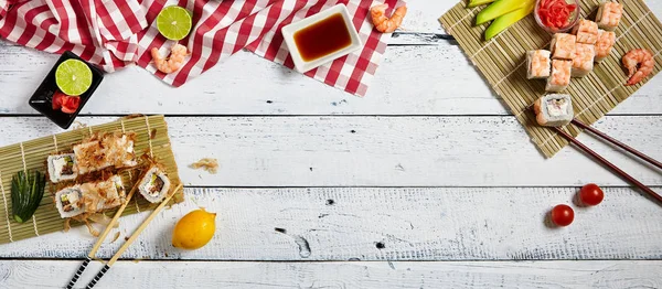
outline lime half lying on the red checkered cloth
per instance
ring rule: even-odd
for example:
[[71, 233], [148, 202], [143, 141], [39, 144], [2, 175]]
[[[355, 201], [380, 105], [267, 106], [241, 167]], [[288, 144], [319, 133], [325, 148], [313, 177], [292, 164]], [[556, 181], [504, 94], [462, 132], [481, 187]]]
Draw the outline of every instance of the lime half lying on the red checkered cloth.
[[193, 21], [189, 10], [179, 6], [163, 8], [157, 17], [157, 29], [169, 40], [181, 40], [189, 35]]

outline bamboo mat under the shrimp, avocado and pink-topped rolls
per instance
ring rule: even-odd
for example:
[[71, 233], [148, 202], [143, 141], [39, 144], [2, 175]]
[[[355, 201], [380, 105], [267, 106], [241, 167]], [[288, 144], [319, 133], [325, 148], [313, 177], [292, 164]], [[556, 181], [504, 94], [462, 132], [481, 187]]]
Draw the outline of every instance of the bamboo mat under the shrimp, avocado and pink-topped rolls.
[[[488, 25], [473, 26], [476, 15], [484, 6], [472, 9], [467, 2], [455, 6], [439, 21], [455, 36], [471, 63], [478, 67], [490, 86], [508, 104], [511, 111], [530, 133], [533, 142], [547, 158], [553, 157], [568, 142], [554, 130], [536, 126], [531, 106], [545, 94], [545, 81], [526, 79], [526, 51], [548, 49], [552, 35], [535, 23], [533, 14], [510, 26], [490, 41], [483, 34]], [[583, 0], [581, 17], [594, 20], [598, 0]], [[596, 64], [594, 72], [584, 78], [573, 78], [563, 92], [573, 97], [575, 117], [594, 124], [618, 104], [634, 94], [639, 87], [661, 71], [662, 24], [642, 0], [621, 0], [623, 17], [616, 30], [616, 44], [609, 57]], [[588, 17], [587, 17], [588, 15]], [[633, 49], [648, 49], [655, 57], [653, 73], [636, 86], [624, 86], [628, 79], [621, 68], [621, 57]], [[565, 130], [579, 135], [575, 126]]]

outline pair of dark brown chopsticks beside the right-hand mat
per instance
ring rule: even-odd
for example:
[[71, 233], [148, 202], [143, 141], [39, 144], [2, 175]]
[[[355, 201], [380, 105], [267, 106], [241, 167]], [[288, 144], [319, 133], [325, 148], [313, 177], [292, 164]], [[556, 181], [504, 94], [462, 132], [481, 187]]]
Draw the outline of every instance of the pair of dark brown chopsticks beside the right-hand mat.
[[[643, 154], [642, 152], [629, 147], [626, 143], [622, 143], [607, 135], [605, 135], [604, 132], [587, 126], [586, 124], [577, 120], [577, 119], [573, 119], [572, 121], [573, 125], [588, 130], [591, 133], [613, 143], [615, 146], [637, 156], [638, 158], [658, 167], [659, 169], [662, 169], [662, 163]], [[563, 131], [563, 129], [560, 128], [556, 128], [556, 132], [558, 132], [560, 136], [563, 136], [565, 139], [567, 139], [570, 143], [577, 146], [579, 149], [584, 150], [586, 153], [590, 154], [594, 159], [598, 160], [600, 163], [602, 163], [605, 167], [609, 168], [611, 171], [616, 172], [618, 175], [620, 175], [621, 178], [626, 179], [628, 182], [630, 182], [631, 184], [636, 185], [637, 188], [641, 189], [641, 191], [643, 191], [644, 193], [647, 193], [649, 196], [653, 197], [655, 201], [658, 201], [658, 203], [660, 205], [662, 205], [662, 196], [660, 196], [658, 193], [655, 193], [653, 190], [651, 190], [650, 188], [648, 188], [645, 184], [641, 183], [640, 181], [638, 181], [637, 179], [632, 178], [631, 175], [629, 175], [628, 173], [626, 173], [623, 170], [619, 169], [618, 167], [616, 167], [613, 163], [609, 162], [608, 160], [606, 160], [605, 158], [602, 158], [600, 154], [598, 154], [597, 152], [592, 151], [591, 149], [589, 149], [588, 147], [586, 147], [586, 144], [581, 143], [580, 141], [578, 141], [577, 139], [575, 139], [573, 136], [570, 136], [569, 133]]]

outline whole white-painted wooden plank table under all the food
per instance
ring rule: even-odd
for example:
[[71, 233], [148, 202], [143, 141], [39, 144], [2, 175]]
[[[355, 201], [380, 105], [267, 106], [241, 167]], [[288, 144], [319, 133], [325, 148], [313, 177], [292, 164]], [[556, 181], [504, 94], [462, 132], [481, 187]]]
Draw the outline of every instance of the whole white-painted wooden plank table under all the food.
[[[178, 89], [139, 67], [107, 75], [78, 120], [167, 115], [186, 202], [98, 287], [662, 287], [662, 207], [573, 148], [543, 159], [460, 49], [436, 38], [455, 2], [410, 1], [365, 98], [248, 52]], [[662, 18], [662, 2], [648, 3]], [[61, 131], [28, 106], [56, 58], [0, 43], [0, 146]], [[662, 76], [596, 127], [662, 159]], [[662, 192], [660, 171], [579, 139]], [[217, 174], [186, 167], [204, 157]], [[545, 225], [589, 182], [601, 205]], [[172, 226], [199, 205], [218, 213], [214, 239], [173, 248]], [[98, 256], [146, 216], [121, 218]], [[93, 243], [77, 228], [1, 245], [0, 287], [62, 287]]]

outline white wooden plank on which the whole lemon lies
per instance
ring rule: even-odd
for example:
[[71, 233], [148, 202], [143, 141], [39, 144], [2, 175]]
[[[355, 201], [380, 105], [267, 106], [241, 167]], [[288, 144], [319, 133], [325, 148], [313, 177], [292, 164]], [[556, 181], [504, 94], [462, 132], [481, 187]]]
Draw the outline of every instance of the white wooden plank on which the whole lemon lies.
[[[656, 188], [660, 191], [660, 188]], [[124, 254], [194, 260], [554, 260], [660, 259], [660, 206], [630, 189], [607, 188], [574, 224], [546, 223], [578, 188], [186, 189]], [[204, 206], [217, 213], [205, 247], [172, 247], [172, 227]], [[122, 217], [97, 256], [108, 258], [146, 214]], [[285, 231], [285, 233], [277, 232]], [[116, 242], [115, 232], [120, 232]], [[84, 258], [86, 228], [0, 246], [1, 258]]]

